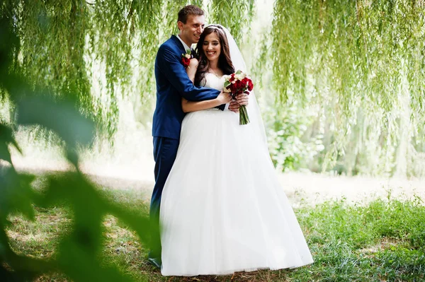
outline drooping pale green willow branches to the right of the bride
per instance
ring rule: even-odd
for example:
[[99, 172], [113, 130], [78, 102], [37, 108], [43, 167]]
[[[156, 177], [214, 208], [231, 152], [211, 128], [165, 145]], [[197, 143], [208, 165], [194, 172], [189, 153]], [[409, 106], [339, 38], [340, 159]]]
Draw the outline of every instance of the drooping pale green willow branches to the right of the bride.
[[424, 12], [419, 0], [275, 2], [276, 100], [319, 117], [324, 169], [363, 158], [371, 174], [406, 175], [424, 158]]

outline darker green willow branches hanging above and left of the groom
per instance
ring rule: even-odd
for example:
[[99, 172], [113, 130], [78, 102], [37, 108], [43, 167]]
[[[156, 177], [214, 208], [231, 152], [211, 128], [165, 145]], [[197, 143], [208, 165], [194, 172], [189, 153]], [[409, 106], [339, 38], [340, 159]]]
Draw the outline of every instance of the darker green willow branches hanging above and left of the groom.
[[[55, 95], [78, 93], [81, 109], [113, 134], [120, 97], [153, 99], [157, 49], [177, 33], [177, 13], [189, 2], [6, 0], [0, 11], [16, 19], [16, 67]], [[253, 9], [253, 1], [191, 4], [204, 5], [208, 21], [228, 24], [237, 39]]]

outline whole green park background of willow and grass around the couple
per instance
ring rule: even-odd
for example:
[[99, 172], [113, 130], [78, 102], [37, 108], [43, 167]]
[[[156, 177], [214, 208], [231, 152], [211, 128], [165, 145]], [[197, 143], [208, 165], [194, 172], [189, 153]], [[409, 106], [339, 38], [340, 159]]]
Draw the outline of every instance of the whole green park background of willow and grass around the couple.
[[[18, 179], [35, 178], [26, 180], [32, 187], [22, 193], [4, 190], [3, 203], [8, 207], [1, 218], [9, 239], [2, 242], [10, 247], [9, 255], [0, 254], [4, 273], [20, 273], [11, 259], [13, 252], [34, 257], [43, 266], [51, 259], [61, 262], [47, 264], [45, 269], [23, 267], [20, 275], [40, 281], [88, 279], [74, 273], [82, 266], [67, 269], [67, 256], [59, 255], [66, 254], [67, 247], [81, 247], [75, 238], [69, 245], [60, 242], [62, 237], [72, 238], [75, 230], [87, 228], [80, 224], [84, 216], [81, 221], [72, 216], [84, 204], [78, 197], [71, 205], [74, 208], [62, 203], [62, 198], [70, 196], [64, 190], [53, 207], [43, 198], [45, 191], [58, 186], [52, 179], [69, 184], [68, 173], [81, 177], [73, 185], [84, 187], [81, 183], [89, 181], [93, 191], [118, 206], [130, 206], [143, 222], [154, 181], [150, 136], [154, 58], [159, 45], [177, 33], [176, 14], [185, 4], [189, 2], [6, 0], [1, 4], [6, 39], [2, 52], [7, 51], [11, 59], [1, 66], [0, 117], [21, 153], [11, 145], [5, 148], [11, 152], [9, 163]], [[236, 279], [424, 278], [425, 228], [423, 221], [419, 223], [425, 217], [424, 1], [191, 4], [205, 9], [207, 23], [229, 28], [242, 49], [255, 83], [271, 158], [316, 258], [309, 268], [239, 274]], [[16, 40], [8, 40], [6, 30]], [[19, 110], [25, 112], [22, 101], [27, 96], [42, 99], [29, 101], [40, 109], [33, 120], [22, 121], [25, 114]], [[60, 106], [68, 100], [77, 105], [69, 115], [65, 114], [68, 108]], [[52, 110], [51, 102], [60, 110]], [[46, 118], [38, 119], [40, 114]], [[57, 124], [50, 124], [52, 120]], [[94, 124], [88, 122], [91, 138], [77, 138], [79, 131], [84, 133], [90, 126], [84, 126], [88, 120], [94, 120]], [[3, 159], [6, 171], [10, 165]], [[68, 188], [80, 191], [81, 198], [86, 195], [82, 188]], [[44, 200], [31, 196], [33, 190]], [[15, 214], [20, 204], [10, 203], [18, 196], [29, 199], [24, 210], [35, 221]], [[89, 208], [87, 213], [91, 212]], [[110, 213], [114, 216], [103, 217]], [[131, 216], [109, 207], [89, 219], [102, 227], [92, 230], [101, 240], [93, 242], [96, 247], [91, 252], [86, 250], [86, 264], [99, 267], [99, 274], [92, 271], [94, 275], [118, 265], [116, 275], [161, 281], [145, 263], [144, 231], [132, 233], [136, 227], [125, 221]], [[57, 225], [54, 230], [47, 228], [52, 222]], [[99, 253], [109, 259], [94, 259]], [[115, 265], [106, 263], [111, 261]], [[115, 276], [105, 278], [111, 277]]]

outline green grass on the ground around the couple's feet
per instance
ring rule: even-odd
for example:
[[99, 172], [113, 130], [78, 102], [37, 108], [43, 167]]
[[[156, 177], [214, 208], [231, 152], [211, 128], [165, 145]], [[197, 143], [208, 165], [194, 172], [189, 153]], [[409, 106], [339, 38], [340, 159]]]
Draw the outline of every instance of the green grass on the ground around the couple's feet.
[[[147, 213], [147, 199], [132, 190], [104, 190], [114, 201]], [[55, 256], [72, 216], [64, 207], [35, 208], [36, 221], [11, 216], [11, 246], [32, 257]], [[115, 264], [135, 281], [425, 281], [425, 207], [411, 200], [379, 199], [366, 205], [344, 200], [295, 210], [314, 264], [293, 270], [254, 271], [234, 276], [163, 277], [147, 264], [147, 249], [117, 218], [103, 221], [103, 263]], [[69, 281], [47, 274], [38, 281]]]

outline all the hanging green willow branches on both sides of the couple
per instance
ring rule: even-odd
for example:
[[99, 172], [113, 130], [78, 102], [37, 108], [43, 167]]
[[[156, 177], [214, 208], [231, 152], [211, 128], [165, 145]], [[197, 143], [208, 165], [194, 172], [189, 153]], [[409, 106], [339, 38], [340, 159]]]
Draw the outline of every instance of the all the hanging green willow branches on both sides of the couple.
[[[49, 86], [52, 95], [77, 95], [81, 110], [94, 114], [112, 135], [121, 99], [132, 100], [135, 112], [152, 113], [154, 57], [177, 33], [176, 15], [186, 4], [5, 0], [0, 11], [15, 20], [20, 45], [13, 67], [33, 86]], [[253, 0], [191, 4], [205, 8], [207, 22], [227, 26], [239, 43], [262, 37], [261, 57], [249, 59], [259, 61], [251, 68], [256, 92], [266, 100], [276, 97], [266, 120], [273, 134], [286, 131], [283, 140], [289, 134], [313, 145], [322, 142], [325, 149], [315, 163], [324, 170], [338, 161], [354, 173], [420, 170], [424, 1], [276, 0], [271, 32], [262, 35], [246, 33]], [[259, 83], [261, 76], [266, 83]], [[0, 93], [7, 100], [4, 89]], [[300, 130], [287, 130], [295, 127]], [[300, 143], [295, 151], [310, 150]], [[285, 143], [278, 146], [280, 153], [288, 151]]]

